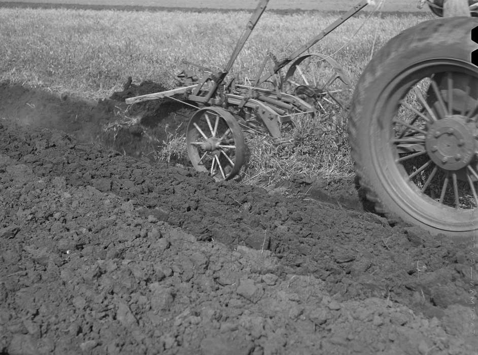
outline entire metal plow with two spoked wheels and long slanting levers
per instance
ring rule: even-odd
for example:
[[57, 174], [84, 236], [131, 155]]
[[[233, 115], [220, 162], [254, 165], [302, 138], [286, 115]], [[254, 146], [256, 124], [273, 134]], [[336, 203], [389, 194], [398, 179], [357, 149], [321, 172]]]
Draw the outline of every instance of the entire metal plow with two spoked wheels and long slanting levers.
[[[290, 139], [282, 136], [282, 124], [293, 123], [300, 115], [315, 115], [317, 109], [325, 111], [322, 102], [343, 108], [340, 96], [350, 86], [349, 76], [334, 59], [320, 53], [304, 53], [365, 7], [367, 1], [358, 3], [288, 57], [278, 60], [267, 53], [252, 81], [227, 80], [268, 2], [259, 2], [224, 69], [215, 72], [183, 60], [183, 64], [200, 69], [202, 76], [184, 69], [176, 77], [178, 88], [126, 99], [126, 103], [133, 104], [181, 97], [183, 102], [197, 105], [186, 132], [188, 155], [196, 170], [208, 172], [216, 180], [232, 179], [245, 163], [243, 130], [270, 136], [277, 145], [291, 144]], [[273, 67], [267, 67], [269, 62], [274, 63]], [[327, 73], [320, 73], [324, 64]]]

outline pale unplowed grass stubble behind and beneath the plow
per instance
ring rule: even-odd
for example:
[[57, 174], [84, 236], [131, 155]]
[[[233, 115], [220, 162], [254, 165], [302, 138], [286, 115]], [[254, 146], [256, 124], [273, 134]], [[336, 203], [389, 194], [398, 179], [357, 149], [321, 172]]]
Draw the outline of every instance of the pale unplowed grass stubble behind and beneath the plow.
[[[173, 88], [183, 58], [217, 69], [224, 66], [249, 17], [246, 12], [1, 9], [0, 80], [87, 99], [121, 90], [128, 76], [133, 82], [153, 80]], [[312, 52], [334, 54], [355, 87], [374, 51], [399, 31], [431, 17], [361, 14], [330, 33]], [[326, 13], [264, 13], [232, 74], [254, 78], [268, 51], [285, 57], [335, 19]], [[345, 116], [329, 108], [319, 119], [298, 120], [287, 131], [294, 138], [292, 146], [275, 147], [261, 136], [248, 138], [245, 180], [270, 185], [296, 173], [331, 180], [351, 176]], [[166, 161], [185, 153], [184, 135], [175, 131], [169, 137], [160, 155]]]

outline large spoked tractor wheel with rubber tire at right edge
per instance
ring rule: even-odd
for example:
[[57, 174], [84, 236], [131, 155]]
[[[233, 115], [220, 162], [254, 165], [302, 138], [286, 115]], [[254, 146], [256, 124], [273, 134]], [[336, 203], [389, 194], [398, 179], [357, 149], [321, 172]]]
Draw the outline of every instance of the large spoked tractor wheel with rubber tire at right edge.
[[375, 210], [455, 239], [478, 233], [478, 46], [471, 17], [408, 28], [369, 62], [349, 113], [355, 169]]

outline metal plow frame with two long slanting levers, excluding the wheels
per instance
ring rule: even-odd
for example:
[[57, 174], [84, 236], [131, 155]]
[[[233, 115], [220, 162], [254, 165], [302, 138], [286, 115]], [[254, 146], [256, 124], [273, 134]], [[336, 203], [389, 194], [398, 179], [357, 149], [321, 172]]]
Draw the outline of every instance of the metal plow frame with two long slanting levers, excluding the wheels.
[[[332, 32], [339, 25], [347, 21], [350, 17], [367, 6], [369, 2], [368, 0], [362, 0], [359, 2], [286, 58], [277, 60], [274, 54], [267, 53], [252, 86], [236, 84], [235, 79], [232, 79], [228, 84], [226, 84], [226, 76], [230, 73], [232, 65], [244, 47], [260, 17], [264, 13], [268, 2], [269, 0], [260, 0], [257, 8], [249, 19], [241, 38], [237, 41], [236, 46], [224, 69], [214, 72], [210, 68], [183, 60], [183, 64], [193, 65], [203, 70], [204, 74], [202, 78], [194, 78], [193, 75], [189, 74], [186, 70], [183, 70], [183, 72], [177, 76], [177, 80], [183, 86], [172, 90], [127, 98], [125, 102], [127, 104], [133, 104], [142, 101], [173, 97], [177, 94], [183, 94], [185, 100], [195, 102], [200, 106], [217, 106], [223, 108], [233, 106], [238, 109], [246, 107], [252, 109], [256, 113], [258, 118], [262, 120], [272, 138], [274, 138], [277, 143], [281, 143], [281, 123], [291, 121], [292, 116], [295, 114], [315, 115], [315, 108], [312, 104], [305, 102], [295, 95], [281, 92], [282, 84], [279, 83], [278, 85], [275, 80], [272, 81], [272, 83], [274, 83], [276, 86], [275, 90], [265, 89], [260, 87], [260, 85], [270, 81], [273, 76], [279, 74], [280, 70], [288, 64], [292, 64], [285, 75], [285, 80], [289, 79], [294, 74], [293, 68], [295, 68], [295, 65], [299, 64], [302, 60], [310, 55], [321, 57], [321, 60], [327, 61], [338, 71], [339, 75], [333, 78], [334, 80], [339, 79], [344, 83], [349, 84], [348, 76], [332, 58], [319, 53], [306, 54], [303, 56], [301, 56], [301, 54], [309, 50], [327, 34]], [[266, 63], [270, 59], [274, 61], [274, 67], [264, 73]], [[324, 95], [328, 93], [329, 92], [326, 91]], [[333, 98], [333, 96], [331, 97]], [[341, 105], [338, 101], [336, 102]]]

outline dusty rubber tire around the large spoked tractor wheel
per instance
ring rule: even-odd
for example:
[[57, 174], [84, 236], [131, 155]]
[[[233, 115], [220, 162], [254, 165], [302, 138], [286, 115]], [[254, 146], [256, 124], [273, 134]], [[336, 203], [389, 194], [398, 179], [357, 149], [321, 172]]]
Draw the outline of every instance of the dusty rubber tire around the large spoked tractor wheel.
[[420, 209], [424, 203], [417, 192], [405, 192], [405, 199], [417, 200], [417, 204], [404, 203], [395, 187], [384, 181], [383, 176], [391, 171], [380, 166], [379, 159], [375, 157], [380, 152], [374, 150], [380, 146], [378, 136], [384, 129], [379, 122], [384, 118], [379, 119], [378, 110], [398, 104], [387, 102], [383, 97], [387, 86], [406, 68], [434, 58], [464, 60], [473, 67], [474, 73], [476, 66], [470, 63], [470, 53], [478, 46], [471, 41], [470, 32], [475, 26], [478, 26], [478, 19], [471, 17], [439, 18], [419, 23], [391, 39], [365, 67], [356, 86], [348, 118], [351, 155], [357, 177], [362, 192], [374, 205], [375, 211], [389, 219], [396, 220], [398, 217], [432, 234], [443, 233], [456, 240], [470, 240], [467, 238], [478, 231], [478, 213], [476, 218], [470, 218], [472, 221], [466, 228], [454, 225], [447, 216], [446, 208], [436, 216], [424, 217], [426, 212]]

